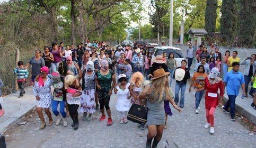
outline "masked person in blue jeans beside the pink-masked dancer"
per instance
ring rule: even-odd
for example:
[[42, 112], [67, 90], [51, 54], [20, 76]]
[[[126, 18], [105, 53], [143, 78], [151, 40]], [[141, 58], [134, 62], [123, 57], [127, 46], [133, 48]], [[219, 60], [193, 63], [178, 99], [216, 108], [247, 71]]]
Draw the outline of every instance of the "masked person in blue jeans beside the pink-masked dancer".
[[[52, 112], [55, 116], [57, 116], [56, 126], [58, 126], [63, 120], [63, 125], [67, 126], [67, 115], [65, 113], [65, 104], [66, 101], [64, 100], [64, 84], [60, 80], [59, 72], [52, 72], [51, 74], [51, 80], [54, 82], [54, 98], [52, 100]], [[59, 112], [58, 112], [58, 105], [59, 105]], [[62, 117], [61, 117], [62, 116]]]

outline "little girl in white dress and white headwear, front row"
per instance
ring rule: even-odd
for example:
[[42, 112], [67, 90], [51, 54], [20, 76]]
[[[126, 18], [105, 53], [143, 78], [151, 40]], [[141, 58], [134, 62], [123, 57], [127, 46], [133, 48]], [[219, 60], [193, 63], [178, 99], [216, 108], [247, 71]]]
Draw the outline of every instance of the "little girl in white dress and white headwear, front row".
[[127, 113], [130, 109], [131, 102], [130, 102], [130, 92], [129, 92], [129, 86], [130, 84], [126, 83], [127, 78], [125, 74], [121, 74], [118, 76], [118, 83], [116, 84], [114, 88], [114, 94], [117, 94], [117, 105], [116, 108], [120, 114], [120, 123], [127, 123]]

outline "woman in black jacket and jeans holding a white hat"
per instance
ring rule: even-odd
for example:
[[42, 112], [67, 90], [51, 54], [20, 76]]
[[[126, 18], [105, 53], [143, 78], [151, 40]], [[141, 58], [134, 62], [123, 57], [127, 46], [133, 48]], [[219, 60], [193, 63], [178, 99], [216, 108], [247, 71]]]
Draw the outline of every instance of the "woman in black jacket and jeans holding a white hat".
[[[186, 67], [187, 61], [182, 60], [181, 61], [181, 67], [178, 67], [175, 70], [175, 103], [178, 104], [180, 100], [180, 107], [184, 107], [184, 101], [185, 101], [185, 90], [187, 86], [187, 80], [190, 78], [189, 69]], [[181, 92], [180, 92], [181, 90]], [[181, 98], [179, 99], [179, 92], [181, 94]]]

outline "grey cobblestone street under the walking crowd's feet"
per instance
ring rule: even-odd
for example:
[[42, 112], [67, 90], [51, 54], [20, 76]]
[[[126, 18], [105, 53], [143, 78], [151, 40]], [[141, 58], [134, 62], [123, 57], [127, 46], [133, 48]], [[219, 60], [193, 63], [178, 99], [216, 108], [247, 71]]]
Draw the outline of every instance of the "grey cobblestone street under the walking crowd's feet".
[[[164, 147], [166, 140], [174, 141], [179, 147], [255, 147], [256, 135], [249, 133], [239, 122], [230, 121], [219, 107], [215, 114], [215, 134], [210, 135], [204, 128], [205, 101], [200, 104], [199, 114], [195, 114], [193, 92], [186, 92], [185, 96], [181, 114], [172, 108], [173, 116], [168, 119], [168, 128], [158, 147]], [[147, 129], [141, 130], [132, 122], [119, 124], [115, 103], [116, 96], [113, 95], [110, 101], [112, 126], [107, 126], [107, 121], [98, 121], [100, 112], [94, 114], [91, 122], [82, 121], [80, 114], [77, 131], [70, 126], [70, 118], [67, 127], [59, 125], [39, 130], [40, 119], [33, 112], [25, 119], [27, 124], [15, 125], [5, 133], [7, 147], [145, 147]]]

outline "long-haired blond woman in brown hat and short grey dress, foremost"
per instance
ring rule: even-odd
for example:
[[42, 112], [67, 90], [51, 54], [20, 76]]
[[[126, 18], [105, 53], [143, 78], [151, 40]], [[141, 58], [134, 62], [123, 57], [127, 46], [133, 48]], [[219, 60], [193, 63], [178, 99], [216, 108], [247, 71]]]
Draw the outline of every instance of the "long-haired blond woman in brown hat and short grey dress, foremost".
[[146, 147], [151, 147], [153, 138], [152, 147], [156, 147], [162, 138], [165, 123], [164, 99], [168, 99], [173, 107], [181, 112], [181, 109], [171, 97], [169, 77], [167, 75], [170, 75], [170, 72], [165, 72], [162, 68], [155, 70], [152, 82], [145, 87], [138, 97], [139, 99], [147, 98], [147, 107], [149, 108], [147, 113], [148, 134]]

